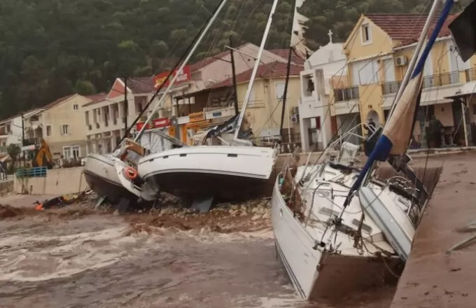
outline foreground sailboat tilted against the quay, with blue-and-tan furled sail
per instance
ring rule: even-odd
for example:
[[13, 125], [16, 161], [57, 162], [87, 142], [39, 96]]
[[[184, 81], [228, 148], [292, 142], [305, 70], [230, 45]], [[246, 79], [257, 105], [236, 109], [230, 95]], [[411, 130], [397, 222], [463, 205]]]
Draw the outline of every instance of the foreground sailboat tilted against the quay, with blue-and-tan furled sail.
[[[331, 155], [311, 167], [288, 162], [276, 179], [272, 193], [276, 251], [297, 293], [306, 300], [372, 286], [392, 276], [409, 257], [429, 195], [409, 167], [406, 152], [423, 66], [454, 1], [444, 2], [419, 55], [441, 3], [435, 0], [430, 9], [388, 121], [376, 132], [377, 144], [368, 148], [370, 140], [365, 142], [368, 158], [363, 169]], [[373, 171], [379, 161], [387, 161], [406, 179], [377, 179]]]

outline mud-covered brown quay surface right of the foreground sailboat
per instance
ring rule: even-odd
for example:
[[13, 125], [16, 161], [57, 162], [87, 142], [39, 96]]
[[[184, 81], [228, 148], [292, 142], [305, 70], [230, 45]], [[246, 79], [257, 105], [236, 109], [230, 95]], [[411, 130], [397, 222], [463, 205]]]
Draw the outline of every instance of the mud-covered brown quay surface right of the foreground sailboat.
[[476, 154], [430, 159], [435, 162], [444, 164], [440, 181], [416, 231], [391, 308], [475, 307], [476, 241], [451, 254], [446, 251], [474, 234], [456, 229], [476, 221]]

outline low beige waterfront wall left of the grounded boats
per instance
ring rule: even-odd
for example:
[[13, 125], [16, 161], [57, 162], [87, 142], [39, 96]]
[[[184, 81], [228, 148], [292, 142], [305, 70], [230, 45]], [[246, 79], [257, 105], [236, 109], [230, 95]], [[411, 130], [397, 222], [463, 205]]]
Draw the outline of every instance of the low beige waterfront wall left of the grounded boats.
[[83, 167], [48, 170], [45, 177], [14, 180], [15, 193], [30, 195], [66, 195], [87, 188]]

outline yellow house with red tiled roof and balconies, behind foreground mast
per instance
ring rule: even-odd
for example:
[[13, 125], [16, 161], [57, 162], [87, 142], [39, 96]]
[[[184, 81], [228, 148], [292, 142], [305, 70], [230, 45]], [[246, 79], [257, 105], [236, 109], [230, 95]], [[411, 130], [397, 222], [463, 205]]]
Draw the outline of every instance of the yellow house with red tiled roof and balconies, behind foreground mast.
[[[415, 138], [423, 144], [425, 140], [421, 135], [425, 133], [430, 116], [439, 119], [447, 130], [446, 144], [465, 142], [463, 122], [467, 122], [470, 141], [470, 132], [475, 126], [472, 104], [476, 99], [471, 102], [463, 99], [461, 104], [455, 97], [461, 97], [461, 94], [469, 97], [472, 93], [476, 85], [476, 59], [472, 57], [463, 62], [454, 48], [447, 28], [454, 17], [450, 15], [440, 31], [423, 70], [421, 107], [416, 123], [420, 130], [414, 132]], [[361, 15], [343, 46], [348, 74], [339, 84], [333, 80], [333, 109], [358, 106], [360, 121], [366, 123], [372, 118], [383, 125], [425, 20], [425, 16], [412, 14]], [[462, 120], [462, 110], [468, 117], [466, 121]]]

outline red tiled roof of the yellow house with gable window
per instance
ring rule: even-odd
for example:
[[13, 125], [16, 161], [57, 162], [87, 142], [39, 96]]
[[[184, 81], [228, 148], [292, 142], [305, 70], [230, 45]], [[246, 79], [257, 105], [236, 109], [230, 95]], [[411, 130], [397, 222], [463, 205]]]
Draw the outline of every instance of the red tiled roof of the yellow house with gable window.
[[[450, 14], [438, 34], [438, 37], [449, 36], [448, 25], [456, 18], [456, 14]], [[426, 22], [426, 15], [420, 14], [366, 14], [365, 17], [372, 20], [380, 29], [384, 30], [392, 39], [401, 41], [403, 45], [418, 41], [421, 31]], [[433, 19], [430, 30], [435, 27], [438, 16]]]

